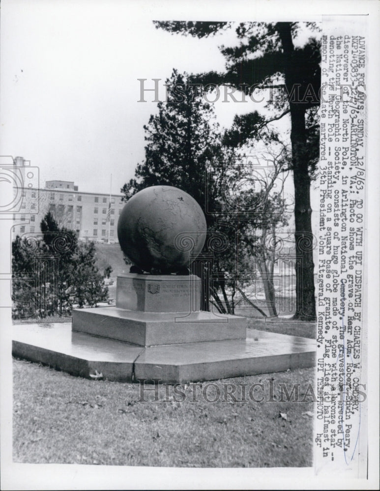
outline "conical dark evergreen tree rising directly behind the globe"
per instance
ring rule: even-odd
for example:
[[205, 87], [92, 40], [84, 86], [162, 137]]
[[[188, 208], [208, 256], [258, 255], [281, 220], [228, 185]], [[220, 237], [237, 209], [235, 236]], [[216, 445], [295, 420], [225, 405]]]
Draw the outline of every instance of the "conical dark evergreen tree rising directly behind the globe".
[[206, 195], [206, 170], [211, 163], [225, 164], [232, 153], [223, 149], [212, 106], [189, 88], [186, 74], [174, 70], [166, 83], [171, 88], [167, 101], [158, 103], [158, 114], [144, 125], [145, 160], [121, 192], [129, 199], [149, 186], [175, 186], [188, 192], [204, 210], [207, 201], [210, 224], [217, 201], [213, 187], [207, 187]]

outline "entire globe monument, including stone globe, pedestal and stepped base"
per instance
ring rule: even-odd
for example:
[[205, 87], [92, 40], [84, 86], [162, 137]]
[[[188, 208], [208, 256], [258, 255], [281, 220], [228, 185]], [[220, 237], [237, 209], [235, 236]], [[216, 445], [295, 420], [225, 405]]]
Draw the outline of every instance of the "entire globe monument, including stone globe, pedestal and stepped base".
[[[315, 341], [249, 329], [244, 317], [200, 310], [190, 264], [205, 244], [196, 201], [171, 186], [125, 205], [118, 238], [133, 263], [117, 276], [116, 306], [74, 309], [72, 323], [13, 326], [14, 356], [72, 375], [182, 383], [315, 364]], [[120, 251], [121, 253], [121, 251]]]

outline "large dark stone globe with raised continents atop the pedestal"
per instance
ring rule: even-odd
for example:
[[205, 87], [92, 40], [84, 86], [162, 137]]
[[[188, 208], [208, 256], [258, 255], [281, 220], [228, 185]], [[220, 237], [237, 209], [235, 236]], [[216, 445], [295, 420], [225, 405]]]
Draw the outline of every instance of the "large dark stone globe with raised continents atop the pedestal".
[[125, 204], [117, 236], [122, 251], [139, 269], [155, 274], [183, 272], [205, 245], [205, 215], [187, 192], [152, 186]]

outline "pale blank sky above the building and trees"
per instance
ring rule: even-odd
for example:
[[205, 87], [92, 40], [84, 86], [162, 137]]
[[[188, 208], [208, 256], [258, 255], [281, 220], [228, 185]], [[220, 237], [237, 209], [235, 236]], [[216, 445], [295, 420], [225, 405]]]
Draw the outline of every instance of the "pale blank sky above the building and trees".
[[[112, 192], [120, 192], [144, 159], [143, 125], [157, 112], [153, 92], [139, 102], [139, 79], [147, 79], [146, 88], [161, 79], [164, 98], [173, 68], [223, 71], [218, 46], [236, 44], [233, 29], [206, 39], [156, 29], [153, 19], [189, 12], [171, 3], [165, 14], [151, 5], [3, 1], [0, 155], [22, 156], [37, 166], [42, 187], [58, 179], [74, 181], [79, 191], [108, 193], [112, 174]], [[222, 101], [215, 110], [224, 127], [234, 114], [263, 106]]]

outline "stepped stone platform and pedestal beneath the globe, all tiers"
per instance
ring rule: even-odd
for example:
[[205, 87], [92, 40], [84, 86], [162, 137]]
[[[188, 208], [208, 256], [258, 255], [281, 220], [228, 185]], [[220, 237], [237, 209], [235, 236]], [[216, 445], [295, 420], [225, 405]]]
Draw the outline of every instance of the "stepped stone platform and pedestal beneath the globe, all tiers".
[[196, 276], [126, 274], [117, 278], [116, 307], [76, 309], [72, 324], [13, 326], [12, 353], [117, 382], [195, 382], [315, 365], [315, 341], [247, 335], [245, 318], [201, 312], [199, 301]]

